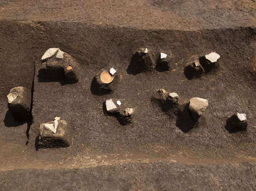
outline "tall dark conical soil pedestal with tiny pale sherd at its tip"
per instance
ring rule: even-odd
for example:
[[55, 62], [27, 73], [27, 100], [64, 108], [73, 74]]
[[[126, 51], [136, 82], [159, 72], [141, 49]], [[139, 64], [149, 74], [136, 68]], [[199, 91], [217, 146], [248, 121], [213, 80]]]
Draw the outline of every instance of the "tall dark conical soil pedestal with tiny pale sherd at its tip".
[[140, 48], [135, 52], [130, 61], [127, 73], [138, 74], [141, 72], [152, 71], [155, 68], [155, 61], [151, 51], [147, 48]]

